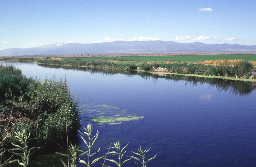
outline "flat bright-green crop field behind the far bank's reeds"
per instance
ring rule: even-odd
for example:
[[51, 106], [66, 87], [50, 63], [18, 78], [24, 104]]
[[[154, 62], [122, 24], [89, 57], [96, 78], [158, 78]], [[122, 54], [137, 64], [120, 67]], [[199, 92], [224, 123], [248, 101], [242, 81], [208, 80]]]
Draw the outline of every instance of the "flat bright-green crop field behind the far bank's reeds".
[[126, 59], [133, 61], [183, 61], [197, 62], [200, 60], [226, 60], [226, 59], [245, 59], [248, 61], [256, 61], [256, 54], [234, 54], [234, 55], [167, 55], [167, 56], [118, 56], [118, 57], [61, 57], [63, 59], [80, 58], [83, 60], [111, 60], [111, 59]]

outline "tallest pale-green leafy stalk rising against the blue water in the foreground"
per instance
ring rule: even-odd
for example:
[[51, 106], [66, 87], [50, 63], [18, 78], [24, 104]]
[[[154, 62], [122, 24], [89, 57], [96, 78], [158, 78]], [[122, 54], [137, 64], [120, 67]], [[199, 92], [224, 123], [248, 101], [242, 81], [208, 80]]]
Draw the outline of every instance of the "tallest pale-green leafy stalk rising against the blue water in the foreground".
[[83, 127], [83, 128], [84, 128], [84, 130], [85, 130], [86, 132], [80, 132], [79, 130], [78, 130], [78, 131], [80, 132], [80, 137], [83, 139], [83, 142], [86, 144], [88, 150], [85, 151], [85, 152], [83, 152], [83, 153], [81, 154], [81, 156], [84, 155], [84, 154], [86, 154], [87, 157], [88, 157], [88, 161], [86, 162], [86, 161], [84, 161], [84, 160], [79, 159], [79, 162], [80, 162], [80, 163], [83, 163], [83, 164], [86, 164], [87, 167], [90, 167], [91, 164], [93, 164], [93, 163], [95, 163], [95, 162], [98, 162], [99, 160], [103, 159], [104, 156], [99, 157], [99, 158], [96, 158], [96, 159], [94, 159], [93, 161], [91, 161], [91, 157], [92, 157], [93, 155], [97, 154], [97, 153], [100, 151], [100, 148], [99, 148], [98, 151], [96, 151], [96, 152], [94, 152], [94, 153], [91, 153], [92, 146], [93, 146], [93, 144], [95, 143], [95, 141], [97, 140], [97, 138], [98, 138], [98, 136], [99, 136], [99, 131], [97, 130], [96, 135], [94, 135], [94, 136], [92, 137], [92, 129], [93, 129], [93, 128], [92, 128], [92, 124], [89, 123], [86, 128], [85, 128], [85, 127]]

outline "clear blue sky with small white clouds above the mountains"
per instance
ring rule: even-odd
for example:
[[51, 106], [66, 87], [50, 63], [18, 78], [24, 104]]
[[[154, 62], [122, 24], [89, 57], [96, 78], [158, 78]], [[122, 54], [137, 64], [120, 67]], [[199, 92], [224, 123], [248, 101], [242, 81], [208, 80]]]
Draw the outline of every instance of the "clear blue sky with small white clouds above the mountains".
[[255, 0], [0, 1], [0, 50], [59, 42], [256, 45]]

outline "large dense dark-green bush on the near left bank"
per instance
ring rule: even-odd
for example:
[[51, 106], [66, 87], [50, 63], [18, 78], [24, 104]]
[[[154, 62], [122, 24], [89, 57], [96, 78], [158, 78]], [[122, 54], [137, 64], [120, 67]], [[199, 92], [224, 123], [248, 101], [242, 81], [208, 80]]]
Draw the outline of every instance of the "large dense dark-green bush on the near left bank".
[[3, 72], [0, 73], [1, 125], [7, 125], [12, 110], [12, 126], [8, 132], [31, 131], [31, 137], [37, 138], [34, 145], [65, 144], [66, 126], [70, 140], [77, 139], [78, 100], [69, 91], [66, 77], [64, 81], [53, 78], [42, 83], [10, 72], [13, 71], [10, 68], [13, 67], [0, 68]]

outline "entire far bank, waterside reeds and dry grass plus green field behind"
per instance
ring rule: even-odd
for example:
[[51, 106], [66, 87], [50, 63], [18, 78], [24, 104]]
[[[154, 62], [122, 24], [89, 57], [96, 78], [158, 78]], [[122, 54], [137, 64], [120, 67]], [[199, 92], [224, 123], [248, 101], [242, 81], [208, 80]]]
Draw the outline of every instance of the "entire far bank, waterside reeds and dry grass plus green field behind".
[[256, 55], [171, 55], [121, 57], [19, 58], [39, 64], [94, 67], [100, 70], [143, 70], [227, 78], [256, 78]]

